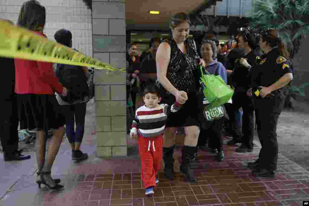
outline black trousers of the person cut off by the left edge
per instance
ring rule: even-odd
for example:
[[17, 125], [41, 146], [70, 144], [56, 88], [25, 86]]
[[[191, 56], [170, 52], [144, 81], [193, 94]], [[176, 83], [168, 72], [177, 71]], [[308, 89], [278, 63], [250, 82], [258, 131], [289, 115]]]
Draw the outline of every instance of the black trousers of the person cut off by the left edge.
[[4, 152], [13, 153], [18, 149], [19, 140], [17, 96], [16, 94], [12, 95], [11, 99], [2, 100], [1, 102], [1, 145]]

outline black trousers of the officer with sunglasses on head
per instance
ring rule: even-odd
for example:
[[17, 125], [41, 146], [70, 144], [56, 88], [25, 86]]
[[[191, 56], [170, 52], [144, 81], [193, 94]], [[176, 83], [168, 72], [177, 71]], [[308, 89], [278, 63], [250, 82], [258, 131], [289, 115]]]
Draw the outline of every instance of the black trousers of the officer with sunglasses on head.
[[[253, 132], [254, 132], [254, 104], [251, 98], [249, 98], [246, 92], [235, 92], [233, 95], [233, 112], [232, 118], [234, 122], [234, 132], [233, 138], [237, 140], [241, 140], [243, 144], [245, 144], [248, 148], [253, 148]], [[241, 135], [240, 125], [237, 124], [236, 120], [236, 112], [239, 108], [243, 108], [243, 116], [242, 116], [242, 128], [243, 128], [243, 136]]]

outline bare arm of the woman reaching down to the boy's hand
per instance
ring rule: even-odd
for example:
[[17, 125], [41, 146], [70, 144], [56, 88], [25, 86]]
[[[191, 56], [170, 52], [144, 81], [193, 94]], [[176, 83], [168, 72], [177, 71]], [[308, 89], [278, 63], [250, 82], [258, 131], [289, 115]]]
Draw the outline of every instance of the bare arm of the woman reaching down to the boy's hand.
[[176, 95], [178, 90], [166, 78], [167, 67], [170, 62], [170, 55], [170, 45], [167, 42], [161, 43], [156, 53], [157, 78], [167, 91], [169, 91], [173, 95]]

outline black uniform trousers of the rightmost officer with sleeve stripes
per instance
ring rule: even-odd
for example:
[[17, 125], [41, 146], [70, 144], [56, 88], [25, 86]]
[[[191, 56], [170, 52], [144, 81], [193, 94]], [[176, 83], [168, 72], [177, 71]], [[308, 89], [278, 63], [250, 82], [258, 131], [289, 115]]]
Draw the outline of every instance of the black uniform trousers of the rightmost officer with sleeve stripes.
[[259, 168], [277, 170], [278, 142], [277, 122], [283, 109], [284, 97], [276, 95], [271, 99], [256, 99], [256, 124], [261, 143]]

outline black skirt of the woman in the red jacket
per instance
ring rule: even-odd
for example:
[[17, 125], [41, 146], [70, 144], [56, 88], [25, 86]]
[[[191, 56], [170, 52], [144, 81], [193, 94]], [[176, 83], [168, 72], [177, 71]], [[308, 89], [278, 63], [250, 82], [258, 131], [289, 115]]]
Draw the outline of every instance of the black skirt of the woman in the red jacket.
[[66, 124], [55, 95], [18, 94], [20, 129], [58, 129]]

